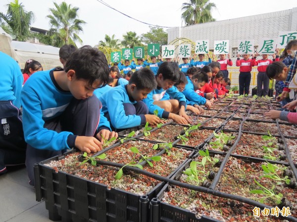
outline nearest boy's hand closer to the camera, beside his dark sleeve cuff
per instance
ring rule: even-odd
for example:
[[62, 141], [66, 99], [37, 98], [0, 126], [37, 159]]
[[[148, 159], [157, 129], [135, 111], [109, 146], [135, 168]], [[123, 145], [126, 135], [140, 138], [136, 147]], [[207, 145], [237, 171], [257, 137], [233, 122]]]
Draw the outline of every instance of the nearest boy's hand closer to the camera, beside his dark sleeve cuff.
[[98, 152], [102, 149], [102, 145], [95, 137], [77, 136], [75, 139], [75, 147], [83, 152]]

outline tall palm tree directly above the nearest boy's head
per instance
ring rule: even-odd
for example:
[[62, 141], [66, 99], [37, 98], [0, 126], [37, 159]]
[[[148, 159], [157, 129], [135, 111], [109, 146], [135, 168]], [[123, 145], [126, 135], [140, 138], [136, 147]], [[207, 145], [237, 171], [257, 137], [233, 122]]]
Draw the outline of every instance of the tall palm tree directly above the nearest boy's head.
[[79, 41], [82, 43], [82, 39], [77, 35], [80, 31], [83, 31], [82, 25], [86, 22], [78, 19], [78, 7], [71, 7], [71, 4], [67, 4], [65, 1], [61, 4], [53, 2], [55, 8], [49, 8], [51, 15], [48, 15], [49, 24], [51, 25], [51, 33], [53, 40], [57, 43], [57, 46], [63, 44], [73, 44]]

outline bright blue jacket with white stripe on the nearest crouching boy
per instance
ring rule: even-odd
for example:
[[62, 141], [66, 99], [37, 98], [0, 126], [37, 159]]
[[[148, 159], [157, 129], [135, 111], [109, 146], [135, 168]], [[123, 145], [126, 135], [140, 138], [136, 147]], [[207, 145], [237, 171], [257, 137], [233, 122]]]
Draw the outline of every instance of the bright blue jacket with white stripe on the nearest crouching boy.
[[[57, 133], [44, 128], [46, 120], [62, 114], [73, 98], [70, 92], [61, 91], [53, 77], [53, 71], [33, 74], [23, 86], [21, 103], [23, 106], [23, 129], [25, 140], [37, 149], [63, 150], [74, 144], [71, 132]], [[100, 108], [98, 108], [99, 111]], [[101, 113], [101, 112], [100, 112]], [[109, 122], [100, 114], [99, 127], [110, 129]], [[69, 138], [68, 138], [69, 137]], [[67, 143], [68, 139], [68, 143]]]

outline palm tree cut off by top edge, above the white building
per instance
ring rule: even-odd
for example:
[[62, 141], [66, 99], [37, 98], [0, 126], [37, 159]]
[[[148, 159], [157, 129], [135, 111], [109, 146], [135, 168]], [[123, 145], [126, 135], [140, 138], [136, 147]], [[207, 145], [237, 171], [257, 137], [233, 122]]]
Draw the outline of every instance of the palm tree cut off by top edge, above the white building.
[[183, 3], [182, 19], [187, 26], [213, 22], [215, 19], [211, 15], [212, 8], [216, 8], [216, 5], [209, 0], [190, 0], [190, 3]]

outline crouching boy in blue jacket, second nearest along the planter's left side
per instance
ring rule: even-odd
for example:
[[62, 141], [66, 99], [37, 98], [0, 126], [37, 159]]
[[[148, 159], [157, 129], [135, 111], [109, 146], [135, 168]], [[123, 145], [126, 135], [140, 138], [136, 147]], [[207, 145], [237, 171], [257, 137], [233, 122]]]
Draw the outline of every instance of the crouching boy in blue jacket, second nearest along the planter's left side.
[[139, 126], [148, 122], [156, 125], [159, 117], [148, 114], [148, 107], [142, 101], [156, 87], [154, 74], [147, 68], [136, 71], [126, 85], [110, 89], [100, 96], [102, 111], [115, 129]]

